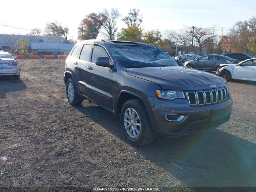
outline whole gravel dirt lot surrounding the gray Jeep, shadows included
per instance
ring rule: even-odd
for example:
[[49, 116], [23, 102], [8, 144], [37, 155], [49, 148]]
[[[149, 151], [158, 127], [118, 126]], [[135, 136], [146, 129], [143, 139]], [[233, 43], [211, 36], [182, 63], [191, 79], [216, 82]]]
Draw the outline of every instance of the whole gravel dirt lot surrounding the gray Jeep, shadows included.
[[0, 186], [256, 186], [256, 83], [229, 83], [218, 129], [137, 148], [106, 110], [68, 104], [64, 60], [19, 63], [0, 78]]

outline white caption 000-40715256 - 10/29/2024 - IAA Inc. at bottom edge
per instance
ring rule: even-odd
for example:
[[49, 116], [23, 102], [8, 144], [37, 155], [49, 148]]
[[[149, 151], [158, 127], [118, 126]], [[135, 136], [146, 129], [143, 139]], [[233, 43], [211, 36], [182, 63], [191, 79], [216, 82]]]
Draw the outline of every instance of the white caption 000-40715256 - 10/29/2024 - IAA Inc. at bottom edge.
[[160, 191], [154, 187], [94, 187], [94, 191]]

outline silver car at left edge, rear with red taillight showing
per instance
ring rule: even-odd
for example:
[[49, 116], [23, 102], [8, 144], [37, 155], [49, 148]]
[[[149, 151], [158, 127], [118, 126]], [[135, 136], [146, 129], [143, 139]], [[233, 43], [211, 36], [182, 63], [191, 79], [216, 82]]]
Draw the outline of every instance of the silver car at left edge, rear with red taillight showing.
[[0, 52], [0, 76], [13, 76], [20, 78], [20, 68], [18, 61], [8, 52]]

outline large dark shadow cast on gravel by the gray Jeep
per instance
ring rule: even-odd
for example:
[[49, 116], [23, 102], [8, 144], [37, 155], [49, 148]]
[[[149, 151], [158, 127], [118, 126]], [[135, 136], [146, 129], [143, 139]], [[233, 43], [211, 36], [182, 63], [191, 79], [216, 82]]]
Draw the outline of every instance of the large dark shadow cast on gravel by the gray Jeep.
[[[99, 106], [76, 108], [124, 140], [113, 114]], [[256, 186], [256, 144], [218, 129], [133, 148], [186, 186]]]

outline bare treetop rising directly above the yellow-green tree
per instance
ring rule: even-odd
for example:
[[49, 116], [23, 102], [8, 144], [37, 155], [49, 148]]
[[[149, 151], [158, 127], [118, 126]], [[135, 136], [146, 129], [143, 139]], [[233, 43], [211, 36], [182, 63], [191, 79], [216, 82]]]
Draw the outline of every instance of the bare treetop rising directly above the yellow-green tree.
[[142, 23], [142, 16], [140, 15], [140, 10], [137, 10], [135, 8], [130, 9], [128, 15], [125, 16], [122, 21], [125, 22], [130, 28], [133, 26], [138, 28]]

